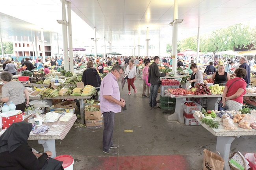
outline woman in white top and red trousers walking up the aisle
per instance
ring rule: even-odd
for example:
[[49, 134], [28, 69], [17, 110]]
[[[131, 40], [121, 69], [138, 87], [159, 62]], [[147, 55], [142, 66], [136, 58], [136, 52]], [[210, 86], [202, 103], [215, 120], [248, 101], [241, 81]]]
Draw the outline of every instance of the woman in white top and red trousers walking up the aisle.
[[134, 89], [134, 93], [137, 92], [137, 89], [134, 86], [134, 81], [136, 80], [136, 67], [134, 66], [134, 60], [130, 59], [128, 62], [128, 66], [125, 70], [125, 73], [128, 76], [127, 84], [128, 84], [128, 95], [131, 95], [131, 86]]

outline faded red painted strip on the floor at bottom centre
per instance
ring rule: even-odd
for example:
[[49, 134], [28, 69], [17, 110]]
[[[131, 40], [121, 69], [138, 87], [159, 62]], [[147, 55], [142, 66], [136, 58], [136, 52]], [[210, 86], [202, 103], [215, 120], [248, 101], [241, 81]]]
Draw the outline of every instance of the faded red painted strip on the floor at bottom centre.
[[[117, 163], [118, 162], [118, 163]], [[188, 170], [185, 155], [95, 157], [90, 170]], [[117, 168], [119, 166], [119, 168]]]

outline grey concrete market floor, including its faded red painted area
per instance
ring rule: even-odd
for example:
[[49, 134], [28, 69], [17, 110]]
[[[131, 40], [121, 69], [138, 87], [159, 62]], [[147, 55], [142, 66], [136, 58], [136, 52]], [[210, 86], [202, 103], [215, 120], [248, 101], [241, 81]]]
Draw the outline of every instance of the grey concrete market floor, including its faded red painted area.
[[[203, 150], [206, 148], [215, 151], [217, 137], [202, 126], [186, 126], [177, 121], [168, 121], [167, 117], [173, 111], [149, 107], [149, 98], [141, 97], [142, 81], [138, 78], [134, 84], [136, 94], [132, 91], [130, 96], [127, 95], [127, 84], [123, 91], [120, 90], [127, 110], [115, 115], [113, 140], [119, 144], [117, 155], [110, 156], [102, 152], [103, 128], [76, 128], [77, 125], [71, 128], [63, 141], [56, 140], [56, 154], [72, 155], [74, 170], [202, 169]], [[124, 130], [133, 132], [125, 133]], [[256, 152], [255, 139], [255, 136], [235, 139], [230, 153]], [[33, 148], [43, 152], [43, 147], [37, 141], [28, 142]], [[123, 159], [129, 160], [129, 164]], [[132, 160], [136, 160], [133, 165]], [[167, 167], [159, 168], [151, 164]]]

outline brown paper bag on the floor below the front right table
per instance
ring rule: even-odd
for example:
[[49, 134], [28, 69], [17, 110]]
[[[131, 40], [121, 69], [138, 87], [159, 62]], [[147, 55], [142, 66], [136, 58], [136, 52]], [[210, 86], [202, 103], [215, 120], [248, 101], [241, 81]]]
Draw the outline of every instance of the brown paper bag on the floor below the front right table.
[[204, 170], [223, 170], [224, 159], [207, 149], [204, 150]]

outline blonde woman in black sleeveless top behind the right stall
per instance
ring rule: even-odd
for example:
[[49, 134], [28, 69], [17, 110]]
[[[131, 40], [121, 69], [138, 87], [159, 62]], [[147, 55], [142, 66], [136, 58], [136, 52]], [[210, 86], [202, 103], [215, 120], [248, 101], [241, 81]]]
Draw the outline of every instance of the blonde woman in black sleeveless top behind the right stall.
[[211, 77], [214, 84], [219, 84], [220, 86], [225, 86], [229, 79], [230, 75], [224, 71], [223, 64], [219, 65], [218, 71], [216, 71]]

